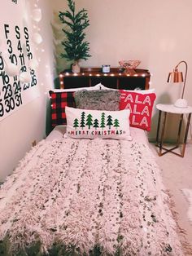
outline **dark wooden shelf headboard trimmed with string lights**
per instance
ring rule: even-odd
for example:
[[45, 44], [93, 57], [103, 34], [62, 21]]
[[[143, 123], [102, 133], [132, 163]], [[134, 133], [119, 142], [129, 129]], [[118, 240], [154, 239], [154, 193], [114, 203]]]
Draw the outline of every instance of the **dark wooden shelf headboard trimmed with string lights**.
[[147, 90], [150, 87], [151, 74], [146, 69], [133, 69], [133, 73], [124, 73], [120, 68], [111, 68], [110, 73], [103, 73], [101, 68], [81, 68], [81, 73], [64, 70], [59, 74], [60, 89], [103, 86], [116, 89]]

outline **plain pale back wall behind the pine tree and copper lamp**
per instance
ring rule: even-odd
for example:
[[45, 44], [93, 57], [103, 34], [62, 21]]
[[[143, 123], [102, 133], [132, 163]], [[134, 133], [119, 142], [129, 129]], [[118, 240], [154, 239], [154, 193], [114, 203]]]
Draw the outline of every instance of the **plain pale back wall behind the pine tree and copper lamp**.
[[[54, 15], [54, 31], [56, 51], [63, 51], [60, 41], [63, 38], [62, 24], [58, 19], [58, 11], [65, 11], [67, 1], [55, 0], [52, 8]], [[150, 70], [151, 88], [155, 88], [157, 99], [155, 104], [171, 104], [181, 96], [181, 84], [168, 84], [168, 72], [180, 60], [189, 66], [185, 99], [192, 105], [192, 58], [190, 34], [192, 15], [191, 0], [185, 1], [133, 1], [133, 0], [78, 0], [76, 9], [88, 11], [90, 26], [86, 29], [86, 39], [90, 43], [91, 58], [81, 61], [81, 66], [101, 66], [111, 64], [118, 66], [119, 60], [141, 60], [138, 68]], [[68, 68], [66, 60], [57, 60], [58, 72]], [[181, 64], [181, 70], [185, 66]], [[169, 140], [174, 139], [176, 123], [172, 117], [167, 134]], [[152, 128], [149, 134], [155, 139], [158, 112], [154, 109]]]

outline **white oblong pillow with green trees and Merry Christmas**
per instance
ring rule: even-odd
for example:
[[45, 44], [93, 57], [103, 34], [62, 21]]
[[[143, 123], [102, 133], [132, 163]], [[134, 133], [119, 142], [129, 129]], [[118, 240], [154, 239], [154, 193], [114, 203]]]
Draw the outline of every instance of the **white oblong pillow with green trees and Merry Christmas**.
[[66, 107], [65, 113], [67, 137], [132, 140], [129, 130], [129, 109], [103, 111]]

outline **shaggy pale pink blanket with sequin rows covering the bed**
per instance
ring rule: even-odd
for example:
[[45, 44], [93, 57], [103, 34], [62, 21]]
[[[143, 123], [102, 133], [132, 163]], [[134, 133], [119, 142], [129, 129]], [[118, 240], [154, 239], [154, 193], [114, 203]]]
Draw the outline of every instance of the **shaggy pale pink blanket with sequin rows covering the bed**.
[[0, 189], [0, 253], [183, 255], [146, 130], [129, 132], [72, 138], [55, 126]]

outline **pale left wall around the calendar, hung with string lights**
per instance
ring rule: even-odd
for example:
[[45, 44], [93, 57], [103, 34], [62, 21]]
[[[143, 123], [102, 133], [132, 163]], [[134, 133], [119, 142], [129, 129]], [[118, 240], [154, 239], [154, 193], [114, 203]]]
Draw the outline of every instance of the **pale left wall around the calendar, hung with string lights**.
[[[8, 174], [11, 174], [20, 159], [32, 147], [33, 140], [38, 142], [46, 136], [48, 98], [46, 93], [53, 86], [54, 77], [52, 29], [49, 19], [52, 10], [46, 3], [46, 0], [19, 0], [15, 2], [9, 0], [2, 3], [1, 8], [6, 17], [4, 19], [2, 16], [0, 17], [1, 40], [4, 24], [9, 24], [10, 32], [14, 31], [16, 25], [20, 26], [20, 31], [23, 30], [24, 26], [27, 26], [29, 30], [31, 29], [32, 33], [29, 33], [31, 38], [34, 29], [37, 30], [34, 26], [38, 26], [38, 33], [41, 34], [43, 42], [40, 45], [33, 42], [30, 44], [33, 48], [33, 57], [39, 62], [36, 69], [37, 97], [0, 121], [0, 182]], [[37, 7], [41, 8], [42, 11], [42, 19], [38, 24], [32, 20], [32, 10]], [[12, 47], [16, 49], [16, 40], [13, 39], [11, 42]], [[1, 48], [2, 46], [3, 44], [1, 44]], [[6, 46], [4, 48], [0, 51], [7, 50]], [[0, 86], [2, 86], [2, 79]]]

